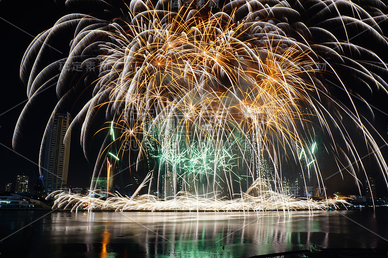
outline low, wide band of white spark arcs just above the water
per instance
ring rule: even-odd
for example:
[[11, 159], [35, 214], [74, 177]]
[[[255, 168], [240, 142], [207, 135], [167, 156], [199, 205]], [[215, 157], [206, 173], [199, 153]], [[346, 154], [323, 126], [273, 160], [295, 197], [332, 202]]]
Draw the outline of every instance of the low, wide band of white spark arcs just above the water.
[[[91, 191], [88, 196], [56, 191], [50, 196], [55, 197], [53, 208], [79, 211], [86, 209], [106, 211], [294, 211], [300, 209], [324, 210], [329, 206], [339, 208], [348, 204], [345, 199], [329, 199], [315, 201], [306, 198], [295, 198], [282, 195], [271, 190], [263, 190], [267, 184], [256, 181], [250, 190], [258, 190], [255, 196], [242, 193], [241, 197], [227, 200], [201, 195], [192, 195], [188, 192], [179, 192], [171, 199], [158, 199], [153, 195], [139, 197], [123, 197], [120, 194]], [[108, 197], [90, 197], [90, 195], [108, 194]], [[49, 196], [49, 197], [50, 197]], [[48, 197], [48, 198], [49, 198]]]

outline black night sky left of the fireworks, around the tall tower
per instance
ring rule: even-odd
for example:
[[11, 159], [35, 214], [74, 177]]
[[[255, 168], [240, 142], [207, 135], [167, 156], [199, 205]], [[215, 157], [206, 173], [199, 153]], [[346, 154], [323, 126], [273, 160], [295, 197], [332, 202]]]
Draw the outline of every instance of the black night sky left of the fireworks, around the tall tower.
[[[16, 175], [24, 173], [32, 177], [34, 171], [38, 170], [35, 164], [38, 163], [40, 140], [48, 121], [47, 113], [43, 114], [41, 108], [48, 103], [52, 106], [57, 99], [55, 92], [49, 92], [51, 94], [44, 96], [42, 105], [37, 106], [31, 114], [32, 122], [29, 121], [26, 125], [31, 134], [27, 137], [24, 150], [18, 150], [20, 155], [9, 150], [8, 148], [12, 149], [16, 121], [27, 100], [26, 85], [23, 85], [19, 79], [20, 63], [33, 37], [49, 29], [67, 12], [68, 10], [63, 5], [57, 5], [52, 0], [2, 0], [0, 2], [0, 26], [3, 31], [0, 41], [2, 49], [2, 61], [0, 62], [2, 80], [0, 83], [3, 89], [3, 101], [0, 103], [0, 159], [2, 164], [0, 191], [3, 190], [6, 182], [12, 182], [15, 187]], [[56, 54], [52, 53], [52, 55], [55, 58]], [[86, 186], [87, 175], [93, 172], [93, 167], [89, 166], [83, 158], [77, 133], [74, 133], [71, 142], [69, 170], [73, 173], [69, 173], [68, 181], [73, 186]], [[79, 175], [85, 175], [81, 176], [81, 182], [78, 182], [77, 179]]]

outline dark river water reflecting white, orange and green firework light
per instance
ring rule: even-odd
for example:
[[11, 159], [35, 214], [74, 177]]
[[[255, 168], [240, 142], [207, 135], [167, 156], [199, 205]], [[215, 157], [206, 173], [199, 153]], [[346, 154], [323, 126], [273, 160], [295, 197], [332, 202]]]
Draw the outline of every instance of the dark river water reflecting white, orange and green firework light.
[[[1, 214], [3, 221], [9, 220], [7, 227], [2, 225], [1, 230], [10, 232], [12, 227], [27, 224], [28, 220], [21, 218], [22, 211], [15, 214], [21, 221]], [[388, 237], [387, 213], [349, 211], [341, 214]], [[30, 237], [16, 234], [12, 241], [29, 243], [30, 257], [44, 250], [46, 256], [59, 253], [64, 257], [100, 258], [235, 258], [309, 249], [312, 243], [326, 248], [386, 245], [378, 236], [341, 214], [291, 212], [279, 217], [276, 212], [53, 212], [32, 225]], [[41, 215], [36, 212], [32, 217]], [[0, 244], [0, 248], [8, 247]]]

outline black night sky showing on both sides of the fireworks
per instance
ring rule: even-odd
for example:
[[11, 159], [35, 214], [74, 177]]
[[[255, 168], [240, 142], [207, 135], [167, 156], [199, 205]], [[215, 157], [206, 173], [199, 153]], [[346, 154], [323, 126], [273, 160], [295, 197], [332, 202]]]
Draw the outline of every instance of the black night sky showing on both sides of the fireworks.
[[[38, 33], [50, 28], [63, 15], [71, 13], [64, 5], [56, 4], [53, 0], [1, 0], [0, 1], [0, 26], [1, 26], [1, 89], [2, 101], [0, 102], [0, 161], [1, 177], [0, 191], [4, 189], [6, 182], [12, 182], [15, 187], [16, 175], [25, 174], [32, 177], [34, 171], [38, 170], [38, 153], [40, 140], [48, 121], [47, 112], [42, 108], [52, 108], [57, 102], [55, 92], [47, 92], [43, 96], [42, 103], [36, 105], [36, 109], [31, 112], [29, 117], [28, 130], [25, 146], [17, 153], [12, 150], [12, 137], [16, 121], [27, 101], [26, 85], [23, 85], [19, 79], [19, 68], [23, 54], [32, 39]], [[68, 39], [68, 38], [67, 38]], [[69, 42], [64, 42], [68, 45]], [[53, 51], [53, 60], [58, 58], [58, 53]], [[387, 96], [384, 94], [375, 94], [367, 98], [375, 108], [374, 120], [372, 124], [385, 140], [388, 140], [388, 113]], [[51, 109], [52, 110], [52, 109]], [[47, 111], [47, 110], [46, 110]], [[93, 172], [80, 147], [79, 128], [72, 132], [70, 167], [68, 176], [68, 185], [85, 187], [89, 176]], [[356, 137], [356, 132], [354, 134]], [[362, 138], [360, 138], [361, 140]], [[378, 142], [379, 146], [383, 143]], [[388, 147], [383, 147], [382, 152], [388, 159]], [[361, 153], [363, 156], [367, 152]], [[368, 161], [368, 157], [363, 161]], [[330, 167], [330, 166], [329, 166]], [[387, 187], [383, 182], [381, 174], [377, 173], [375, 166], [367, 162], [366, 170], [375, 176], [378, 182], [378, 193], [387, 195]], [[331, 171], [323, 171], [330, 174]], [[355, 193], [354, 180], [344, 172], [345, 177], [342, 180], [340, 174], [328, 179], [326, 186], [330, 191], [344, 191], [345, 193]], [[362, 176], [360, 179], [363, 180]]]

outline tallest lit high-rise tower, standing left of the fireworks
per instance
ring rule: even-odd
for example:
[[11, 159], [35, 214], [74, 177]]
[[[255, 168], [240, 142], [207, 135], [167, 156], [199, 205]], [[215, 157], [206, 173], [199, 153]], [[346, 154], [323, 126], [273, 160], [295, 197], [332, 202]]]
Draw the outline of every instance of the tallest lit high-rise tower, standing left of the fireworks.
[[56, 113], [52, 121], [49, 135], [46, 138], [45, 157], [42, 169], [43, 187], [47, 192], [65, 188], [70, 155], [70, 114]]

